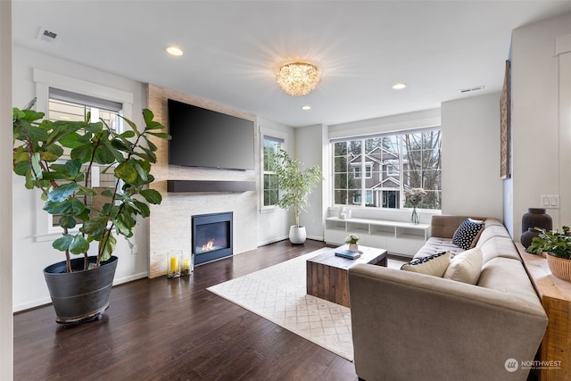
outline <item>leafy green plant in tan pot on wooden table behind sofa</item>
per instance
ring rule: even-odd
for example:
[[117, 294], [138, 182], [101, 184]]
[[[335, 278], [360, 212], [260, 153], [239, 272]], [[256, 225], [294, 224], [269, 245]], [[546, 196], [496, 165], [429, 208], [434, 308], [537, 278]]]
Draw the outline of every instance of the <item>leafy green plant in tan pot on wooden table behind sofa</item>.
[[547, 264], [551, 273], [556, 277], [571, 281], [571, 231], [569, 227], [562, 227], [562, 232], [536, 229], [540, 231], [540, 234], [534, 237], [527, 252], [547, 253]]

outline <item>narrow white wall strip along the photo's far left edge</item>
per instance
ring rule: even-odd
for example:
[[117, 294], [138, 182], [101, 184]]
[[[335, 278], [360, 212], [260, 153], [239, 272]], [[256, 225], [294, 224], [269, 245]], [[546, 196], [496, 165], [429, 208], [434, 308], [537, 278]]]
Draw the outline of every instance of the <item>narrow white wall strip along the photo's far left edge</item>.
[[0, 1], [0, 379], [13, 377], [12, 2]]

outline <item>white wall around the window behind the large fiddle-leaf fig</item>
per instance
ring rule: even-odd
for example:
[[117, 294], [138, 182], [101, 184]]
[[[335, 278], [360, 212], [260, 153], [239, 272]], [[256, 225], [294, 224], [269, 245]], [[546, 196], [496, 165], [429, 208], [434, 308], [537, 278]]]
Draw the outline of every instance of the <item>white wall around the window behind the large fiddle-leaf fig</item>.
[[[55, 59], [49, 55], [32, 52], [19, 46], [13, 48], [12, 64], [12, 104], [16, 106], [23, 107], [36, 96], [36, 84], [33, 81], [32, 69], [38, 68], [64, 74], [70, 79], [89, 81], [97, 85], [132, 93], [134, 95], [133, 120], [136, 123], [142, 122], [140, 111], [145, 104], [145, 93], [142, 84], [138, 82]], [[12, 189], [14, 190], [12, 199], [13, 273], [15, 274], [12, 282], [12, 302], [13, 310], [21, 311], [50, 302], [42, 270], [56, 261], [63, 261], [64, 255], [52, 248], [52, 237], [37, 237], [37, 209], [41, 209], [43, 204], [37, 198], [37, 194], [25, 189], [23, 178], [16, 175], [12, 175]], [[120, 257], [120, 261], [115, 274], [116, 284], [146, 276], [147, 231], [147, 221], [141, 220], [137, 223], [134, 237], [134, 243], [138, 246], [138, 254], [136, 255], [130, 253], [128, 243], [123, 238], [118, 240], [115, 253]]]

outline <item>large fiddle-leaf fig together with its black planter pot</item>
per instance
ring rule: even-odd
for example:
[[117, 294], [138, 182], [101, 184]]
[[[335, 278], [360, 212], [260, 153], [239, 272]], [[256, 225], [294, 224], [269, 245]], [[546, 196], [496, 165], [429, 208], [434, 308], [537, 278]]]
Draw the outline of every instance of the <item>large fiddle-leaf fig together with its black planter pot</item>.
[[[44, 210], [62, 228], [52, 246], [65, 253], [65, 261], [44, 269], [56, 321], [98, 319], [109, 306], [116, 236], [133, 236], [137, 216], [150, 214], [147, 203], [161, 203], [161, 194], [148, 189], [157, 149], [150, 137], [170, 136], [147, 109], [145, 128], [123, 118], [122, 133], [103, 120], [87, 121], [90, 115], [86, 121], [52, 121], [44, 119], [44, 112], [18, 108], [12, 115], [13, 171], [26, 179], [26, 188], [41, 191]], [[92, 186], [95, 167], [112, 172], [115, 185]], [[97, 253], [89, 256], [94, 242]]]

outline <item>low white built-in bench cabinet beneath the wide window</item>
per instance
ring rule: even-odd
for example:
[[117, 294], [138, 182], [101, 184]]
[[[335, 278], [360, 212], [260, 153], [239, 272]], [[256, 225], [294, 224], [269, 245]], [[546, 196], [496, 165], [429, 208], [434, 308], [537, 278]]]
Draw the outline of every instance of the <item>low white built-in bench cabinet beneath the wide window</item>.
[[412, 257], [430, 236], [430, 225], [385, 219], [326, 218], [324, 238], [327, 244], [344, 244], [345, 237], [350, 234], [359, 236], [359, 243], [365, 246]]

